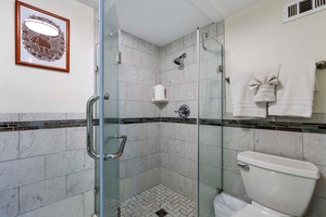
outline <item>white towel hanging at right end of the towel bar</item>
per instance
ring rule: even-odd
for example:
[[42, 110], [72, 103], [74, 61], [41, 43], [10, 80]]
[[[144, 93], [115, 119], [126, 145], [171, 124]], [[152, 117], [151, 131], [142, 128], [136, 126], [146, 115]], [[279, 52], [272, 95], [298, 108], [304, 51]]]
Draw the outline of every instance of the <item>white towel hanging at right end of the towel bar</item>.
[[315, 76], [314, 61], [281, 65], [276, 86], [276, 101], [269, 103], [268, 114], [311, 117]]

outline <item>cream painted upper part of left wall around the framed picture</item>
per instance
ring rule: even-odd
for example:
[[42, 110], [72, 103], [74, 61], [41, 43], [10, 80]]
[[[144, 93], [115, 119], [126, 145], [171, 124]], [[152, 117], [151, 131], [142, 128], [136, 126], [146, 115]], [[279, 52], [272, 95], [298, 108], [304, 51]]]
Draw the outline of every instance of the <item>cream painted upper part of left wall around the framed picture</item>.
[[24, 0], [71, 21], [71, 72], [15, 65], [14, 0], [0, 3], [0, 113], [85, 112], [93, 86], [93, 10], [76, 0]]

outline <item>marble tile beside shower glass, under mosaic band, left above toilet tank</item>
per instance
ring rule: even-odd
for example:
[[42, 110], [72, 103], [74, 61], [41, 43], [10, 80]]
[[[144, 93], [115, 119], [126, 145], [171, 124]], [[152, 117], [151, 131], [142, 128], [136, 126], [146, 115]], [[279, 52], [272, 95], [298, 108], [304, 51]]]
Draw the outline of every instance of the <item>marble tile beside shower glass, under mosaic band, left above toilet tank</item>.
[[223, 144], [225, 149], [253, 151], [254, 130], [244, 128], [223, 128]]

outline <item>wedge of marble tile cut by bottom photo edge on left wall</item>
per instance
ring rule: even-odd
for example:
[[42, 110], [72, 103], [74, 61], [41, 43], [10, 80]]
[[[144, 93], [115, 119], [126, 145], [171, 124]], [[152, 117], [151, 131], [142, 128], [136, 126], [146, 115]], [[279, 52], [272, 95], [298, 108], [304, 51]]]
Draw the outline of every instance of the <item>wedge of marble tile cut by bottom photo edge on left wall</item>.
[[51, 214], [53, 217], [84, 216], [83, 195], [79, 194], [65, 199], [58, 203], [53, 203], [36, 210], [20, 215], [18, 217], [48, 217], [49, 214]]

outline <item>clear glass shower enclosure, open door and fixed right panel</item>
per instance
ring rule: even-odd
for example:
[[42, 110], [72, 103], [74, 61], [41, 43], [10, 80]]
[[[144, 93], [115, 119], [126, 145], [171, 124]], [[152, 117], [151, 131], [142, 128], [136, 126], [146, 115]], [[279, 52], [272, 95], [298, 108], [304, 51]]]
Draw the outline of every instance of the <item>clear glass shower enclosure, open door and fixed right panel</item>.
[[[118, 64], [121, 29], [114, 1], [100, 0], [100, 43], [96, 47], [98, 126], [95, 144], [96, 208], [98, 217], [120, 216], [120, 156], [125, 137], [120, 135]], [[208, 29], [197, 30], [197, 216], [214, 216], [213, 201], [223, 189], [222, 116], [223, 46]], [[89, 116], [88, 123], [96, 119]], [[90, 154], [91, 156], [92, 154]]]

